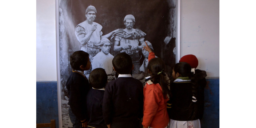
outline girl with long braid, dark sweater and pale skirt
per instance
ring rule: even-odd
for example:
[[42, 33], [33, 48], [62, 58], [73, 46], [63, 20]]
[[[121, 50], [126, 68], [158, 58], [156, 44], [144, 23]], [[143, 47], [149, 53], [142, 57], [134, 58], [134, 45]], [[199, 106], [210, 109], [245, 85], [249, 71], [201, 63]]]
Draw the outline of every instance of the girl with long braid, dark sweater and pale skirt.
[[173, 67], [175, 79], [170, 86], [169, 128], [200, 128], [198, 84], [190, 64], [180, 62]]

